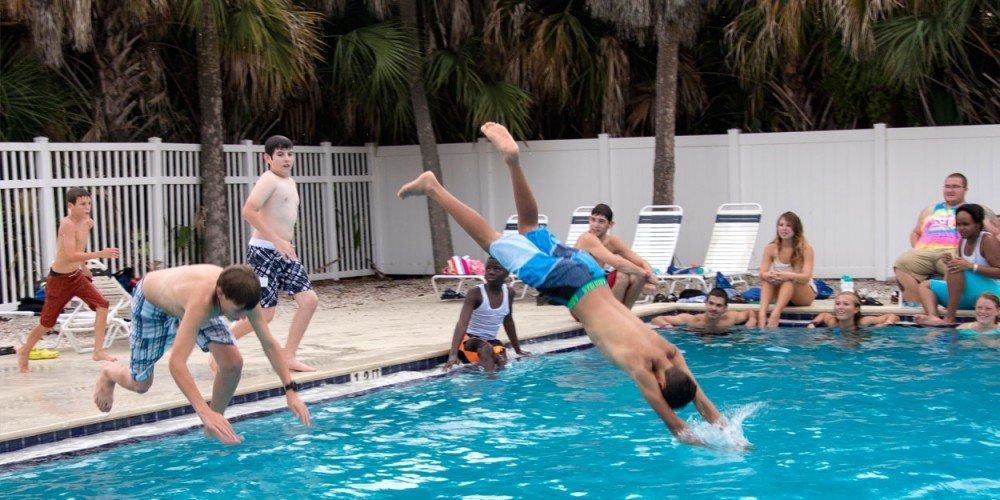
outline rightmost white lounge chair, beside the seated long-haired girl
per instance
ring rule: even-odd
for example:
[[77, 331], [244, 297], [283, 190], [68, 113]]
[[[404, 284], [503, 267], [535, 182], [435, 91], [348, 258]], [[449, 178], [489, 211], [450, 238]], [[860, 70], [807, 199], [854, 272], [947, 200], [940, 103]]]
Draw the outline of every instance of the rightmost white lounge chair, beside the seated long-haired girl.
[[708, 291], [708, 279], [714, 279], [721, 272], [733, 285], [746, 285], [745, 276], [750, 275], [750, 259], [757, 244], [760, 217], [763, 209], [758, 203], [724, 203], [715, 213], [712, 239], [702, 267], [706, 274], [671, 275], [670, 291], [677, 283], [685, 281]]

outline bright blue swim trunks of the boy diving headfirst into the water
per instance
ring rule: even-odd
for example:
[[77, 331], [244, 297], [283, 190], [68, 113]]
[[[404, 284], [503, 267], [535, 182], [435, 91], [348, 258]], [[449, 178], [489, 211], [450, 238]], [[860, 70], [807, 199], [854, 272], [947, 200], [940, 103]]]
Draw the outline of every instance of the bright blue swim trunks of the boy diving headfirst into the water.
[[570, 309], [584, 294], [607, 284], [604, 270], [589, 253], [560, 243], [544, 227], [501, 237], [490, 245], [490, 255], [518, 279]]

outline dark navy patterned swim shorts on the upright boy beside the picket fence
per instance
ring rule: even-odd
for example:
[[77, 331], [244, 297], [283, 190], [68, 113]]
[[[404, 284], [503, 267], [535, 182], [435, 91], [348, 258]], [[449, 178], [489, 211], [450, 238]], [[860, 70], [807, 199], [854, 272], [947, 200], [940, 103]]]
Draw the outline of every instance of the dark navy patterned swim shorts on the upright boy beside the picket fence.
[[312, 283], [302, 263], [285, 260], [270, 241], [252, 238], [247, 245], [247, 264], [253, 267], [260, 278], [261, 307], [276, 306], [278, 290], [288, 295], [312, 290]]

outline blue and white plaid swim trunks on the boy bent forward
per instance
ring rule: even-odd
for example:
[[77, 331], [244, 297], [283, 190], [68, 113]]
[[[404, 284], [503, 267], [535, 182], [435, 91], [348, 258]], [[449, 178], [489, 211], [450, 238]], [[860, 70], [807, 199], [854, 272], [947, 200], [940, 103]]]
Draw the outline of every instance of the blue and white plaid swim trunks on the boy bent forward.
[[[177, 336], [177, 326], [181, 320], [167, 314], [166, 311], [148, 302], [142, 294], [140, 281], [132, 292], [132, 334], [129, 345], [132, 347], [132, 360], [129, 367], [132, 380], [142, 382], [153, 375], [153, 367], [163, 357], [164, 351], [173, 343]], [[208, 352], [210, 342], [235, 345], [236, 339], [220, 317], [212, 318], [201, 325], [195, 342], [202, 351]]]

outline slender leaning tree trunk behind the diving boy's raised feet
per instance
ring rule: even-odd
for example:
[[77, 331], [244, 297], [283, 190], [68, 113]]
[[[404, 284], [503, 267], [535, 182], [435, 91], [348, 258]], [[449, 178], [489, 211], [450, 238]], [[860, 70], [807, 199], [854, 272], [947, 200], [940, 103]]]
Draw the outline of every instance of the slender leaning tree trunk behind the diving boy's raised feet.
[[[417, 20], [416, 0], [401, 0], [399, 2], [400, 19], [403, 25], [412, 29], [420, 42], [420, 31]], [[423, 47], [421, 43], [421, 52]], [[423, 160], [425, 172], [433, 172], [441, 183], [441, 160], [438, 158], [437, 135], [434, 133], [434, 122], [431, 121], [431, 110], [427, 104], [427, 90], [424, 88], [423, 77], [416, 69], [410, 76], [410, 104], [413, 106], [413, 121], [417, 127], [417, 139], [420, 141], [420, 157]], [[448, 223], [448, 213], [437, 203], [427, 203], [427, 216], [431, 225], [431, 253], [434, 257], [434, 270], [443, 266], [454, 255], [451, 243], [451, 227]]]

